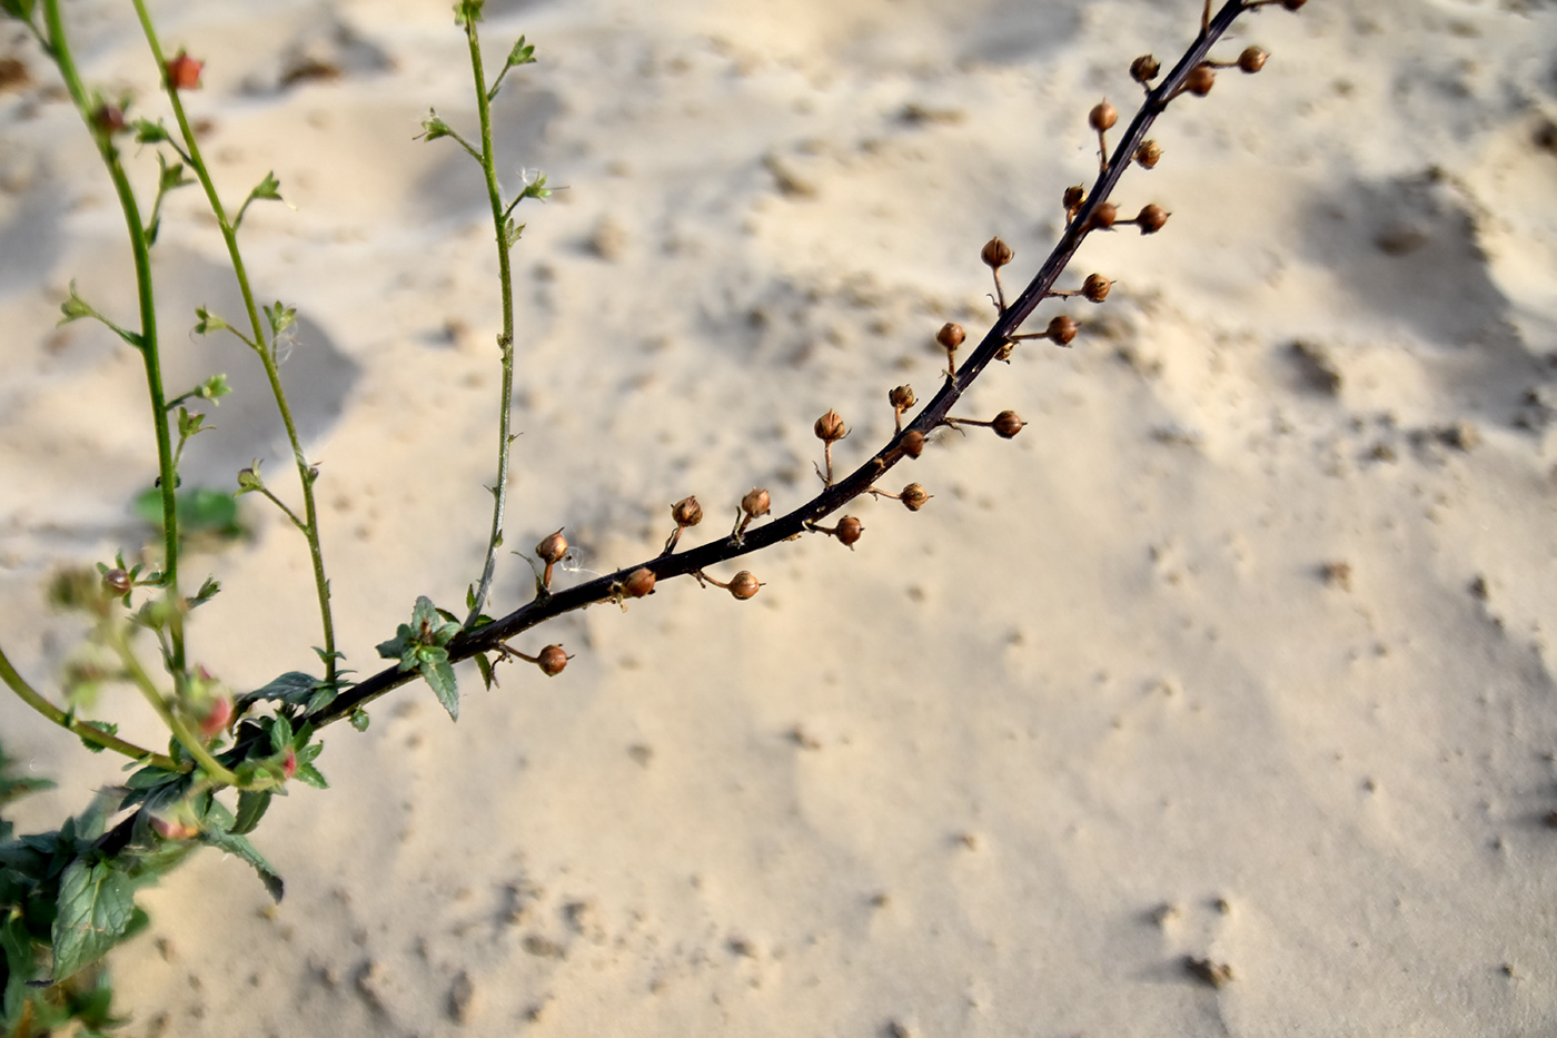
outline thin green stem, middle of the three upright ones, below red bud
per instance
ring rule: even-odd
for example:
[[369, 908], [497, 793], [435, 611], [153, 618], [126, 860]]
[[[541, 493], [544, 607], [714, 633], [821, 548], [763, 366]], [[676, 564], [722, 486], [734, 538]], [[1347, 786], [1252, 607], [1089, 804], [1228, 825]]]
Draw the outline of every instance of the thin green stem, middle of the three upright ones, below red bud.
[[319, 544], [319, 510], [315, 505], [313, 496], [313, 482], [316, 474], [302, 450], [302, 441], [297, 436], [297, 424], [293, 421], [291, 407], [286, 402], [286, 390], [282, 388], [282, 376], [280, 368], [276, 363], [276, 352], [274, 349], [265, 348], [265, 326], [260, 321], [260, 309], [254, 301], [254, 290], [249, 287], [249, 274], [243, 265], [243, 252], [238, 251], [237, 228], [234, 221], [227, 218], [227, 210], [221, 204], [216, 185], [212, 182], [210, 171], [206, 168], [206, 161], [201, 157], [199, 142], [195, 139], [195, 131], [190, 126], [188, 115], [184, 112], [184, 101], [179, 98], [179, 92], [173, 87], [173, 84], [168, 83], [167, 58], [162, 53], [162, 44], [157, 41], [157, 30], [151, 23], [151, 16], [146, 12], [145, 0], [134, 0], [134, 3], [135, 16], [140, 19], [140, 28], [146, 34], [146, 44], [151, 47], [151, 56], [157, 61], [157, 75], [162, 76], [163, 90], [168, 95], [168, 103], [173, 106], [173, 117], [179, 123], [179, 134], [184, 137], [184, 145], [188, 150], [187, 154], [184, 154], [184, 159], [188, 162], [190, 168], [195, 170], [195, 176], [199, 178], [199, 184], [206, 192], [206, 199], [210, 203], [210, 210], [216, 217], [216, 226], [221, 229], [221, 238], [227, 243], [227, 259], [232, 263], [232, 273], [238, 279], [238, 291], [243, 293], [243, 307], [249, 316], [249, 327], [254, 330], [254, 341], [251, 343], [251, 348], [260, 358], [260, 363], [265, 365], [265, 377], [271, 383], [271, 396], [276, 399], [276, 408], [280, 411], [282, 425], [286, 427], [286, 441], [291, 444], [293, 461], [297, 464], [297, 478], [302, 483], [304, 507], [304, 522], [299, 522], [297, 528], [302, 530], [304, 538], [308, 541], [308, 555], [313, 561], [313, 584], [319, 598], [319, 619], [324, 627], [324, 680], [332, 683], [336, 676], [335, 619], [330, 613], [330, 581], [324, 572], [324, 547]]

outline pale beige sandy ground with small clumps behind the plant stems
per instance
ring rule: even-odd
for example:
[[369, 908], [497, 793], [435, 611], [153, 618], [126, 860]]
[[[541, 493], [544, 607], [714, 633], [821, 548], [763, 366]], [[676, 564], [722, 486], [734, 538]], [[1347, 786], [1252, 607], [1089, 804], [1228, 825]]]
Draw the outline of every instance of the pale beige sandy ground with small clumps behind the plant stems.
[[[936, 385], [934, 329], [987, 327], [982, 242], [1031, 273], [1095, 170], [1087, 108], [1199, 14], [489, 6], [492, 59], [540, 56], [498, 103], [508, 184], [567, 187], [522, 212], [509, 544], [567, 525], [593, 570], [657, 552], [684, 494], [705, 536], [754, 483], [803, 500], [828, 407], [867, 457], [886, 390]], [[416, 595], [462, 600], [489, 522], [484, 198], [413, 140], [430, 106], [472, 125], [462, 37], [445, 3], [154, 9], [209, 61], [227, 196], [274, 168], [291, 204], [244, 237], [304, 318], [283, 374], [367, 672]], [[129, 12], [70, 17], [84, 73], [156, 111]], [[462, 673], [458, 725], [417, 686], [330, 731], [333, 790], [257, 834], [280, 907], [216, 854], [145, 898], [126, 1033], [1557, 1033], [1557, 12], [1316, 0], [1247, 42], [1266, 72], [1174, 104], [1126, 176], [1166, 231], [1090, 242], [1073, 277], [1109, 302], [1040, 312], [1074, 349], [958, 408], [1029, 429], [940, 438], [930, 507], [757, 556], [749, 603], [668, 583], [520, 639], [576, 653], [557, 680]], [[135, 357], [53, 329], [72, 277], [131, 312], [126, 254], [75, 114], [5, 50], [34, 83], [0, 94], [0, 630], [47, 686], [79, 630], [40, 588], [148, 539], [154, 454]], [[288, 84], [308, 62], [341, 75]], [[187, 335], [237, 309], [198, 209], [157, 246], [170, 380], [240, 393], [187, 478], [265, 455], [286, 486], [252, 358]], [[301, 539], [244, 517], [188, 563], [224, 586], [195, 653], [237, 689], [319, 641]], [[504, 558], [498, 606], [528, 583]], [[59, 779], [22, 824], [118, 775], [9, 698], [0, 726]]]

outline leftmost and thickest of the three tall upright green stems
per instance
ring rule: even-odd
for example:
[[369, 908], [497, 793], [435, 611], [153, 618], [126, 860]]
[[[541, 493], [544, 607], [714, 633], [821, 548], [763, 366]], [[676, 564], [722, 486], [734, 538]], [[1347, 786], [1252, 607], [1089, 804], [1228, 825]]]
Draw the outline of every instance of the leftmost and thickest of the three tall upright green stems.
[[162, 355], [157, 344], [157, 310], [156, 296], [151, 285], [151, 243], [146, 240], [146, 228], [140, 221], [140, 207], [135, 204], [135, 193], [129, 189], [129, 178], [120, 165], [118, 150], [109, 134], [93, 123], [92, 97], [81, 84], [75, 59], [70, 55], [70, 44], [65, 37], [64, 19], [59, 14], [59, 0], [44, 0], [44, 19], [48, 25], [48, 47], [59, 67], [59, 75], [65, 81], [65, 89], [86, 120], [92, 140], [97, 142], [103, 164], [114, 181], [114, 192], [118, 195], [118, 207], [125, 214], [125, 224], [129, 231], [129, 248], [135, 263], [135, 295], [140, 304], [140, 358], [146, 369], [146, 393], [151, 397], [153, 425], [157, 430], [157, 471], [162, 489], [162, 538], [165, 560], [162, 564], [160, 584], [168, 600], [170, 634], [173, 639], [171, 669], [174, 678], [184, 673], [184, 600], [179, 595], [179, 521], [174, 488], [177, 478], [173, 463], [173, 435], [168, 429], [168, 408], [165, 390], [162, 388]]

